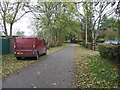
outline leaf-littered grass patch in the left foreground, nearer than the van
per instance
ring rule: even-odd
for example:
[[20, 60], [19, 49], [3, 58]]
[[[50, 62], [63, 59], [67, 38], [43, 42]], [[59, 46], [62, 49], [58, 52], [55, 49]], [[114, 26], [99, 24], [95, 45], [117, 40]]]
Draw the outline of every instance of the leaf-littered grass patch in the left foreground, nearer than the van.
[[7, 77], [14, 72], [19, 72], [24, 67], [35, 62], [35, 60], [17, 60], [12, 54], [5, 55], [2, 59], [2, 78]]

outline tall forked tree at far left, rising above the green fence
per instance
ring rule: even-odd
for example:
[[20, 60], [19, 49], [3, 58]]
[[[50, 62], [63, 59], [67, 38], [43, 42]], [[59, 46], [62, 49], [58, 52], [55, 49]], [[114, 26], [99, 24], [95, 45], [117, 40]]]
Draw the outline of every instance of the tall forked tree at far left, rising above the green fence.
[[[8, 2], [6, 0], [0, 1], [0, 15], [2, 18], [2, 26], [4, 34], [12, 36], [13, 24], [20, 20], [26, 13], [30, 11], [27, 9], [29, 3], [26, 2]], [[9, 27], [8, 27], [9, 26]], [[10, 35], [8, 35], [10, 31]]]

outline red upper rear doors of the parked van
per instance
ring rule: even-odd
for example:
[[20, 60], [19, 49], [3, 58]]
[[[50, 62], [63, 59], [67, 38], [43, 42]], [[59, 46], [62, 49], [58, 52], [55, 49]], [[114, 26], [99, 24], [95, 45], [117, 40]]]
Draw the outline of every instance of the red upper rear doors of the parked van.
[[16, 49], [17, 50], [33, 50], [33, 42], [35, 38], [16, 38]]

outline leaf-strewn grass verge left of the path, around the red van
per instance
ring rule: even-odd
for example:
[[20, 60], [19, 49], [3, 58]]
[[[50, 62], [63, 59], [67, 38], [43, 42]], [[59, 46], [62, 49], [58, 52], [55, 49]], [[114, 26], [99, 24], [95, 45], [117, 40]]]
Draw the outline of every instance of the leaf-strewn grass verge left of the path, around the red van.
[[[57, 50], [60, 50], [62, 48], [66, 47], [66, 45], [58, 46], [58, 47], [52, 47], [48, 49], [48, 54], [53, 53]], [[2, 59], [0, 60], [2, 62], [2, 73], [0, 74], [0, 77], [6, 78], [12, 73], [20, 72], [23, 68], [34, 64], [36, 60], [17, 60], [13, 54], [8, 54], [2, 56]]]

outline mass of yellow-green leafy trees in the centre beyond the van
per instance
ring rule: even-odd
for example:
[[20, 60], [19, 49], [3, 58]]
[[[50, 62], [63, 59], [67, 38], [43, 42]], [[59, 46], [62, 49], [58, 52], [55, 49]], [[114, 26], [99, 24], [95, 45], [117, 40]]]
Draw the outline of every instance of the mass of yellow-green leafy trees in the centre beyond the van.
[[[35, 21], [38, 23], [34, 24], [37, 31], [41, 30], [37, 36], [44, 33], [42, 37], [49, 45], [61, 45], [68, 35], [74, 36], [74, 39], [76, 34], [79, 35], [79, 22], [74, 18], [77, 12], [74, 2], [38, 2], [34, 12], [39, 13]], [[69, 40], [71, 38], [67, 37]]]

